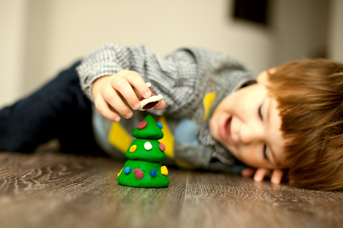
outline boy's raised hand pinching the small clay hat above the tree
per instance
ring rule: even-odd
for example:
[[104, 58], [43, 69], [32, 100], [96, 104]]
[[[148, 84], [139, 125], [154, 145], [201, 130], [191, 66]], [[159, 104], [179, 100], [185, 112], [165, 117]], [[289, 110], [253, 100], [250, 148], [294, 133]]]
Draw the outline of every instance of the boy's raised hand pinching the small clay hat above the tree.
[[[146, 86], [139, 73], [123, 70], [115, 75], [104, 76], [93, 82], [92, 94], [96, 109], [107, 119], [120, 121], [121, 116], [129, 119], [132, 111], [140, 108], [140, 98], [151, 96], [150, 89]], [[162, 100], [154, 109], [163, 109], [165, 102]]]

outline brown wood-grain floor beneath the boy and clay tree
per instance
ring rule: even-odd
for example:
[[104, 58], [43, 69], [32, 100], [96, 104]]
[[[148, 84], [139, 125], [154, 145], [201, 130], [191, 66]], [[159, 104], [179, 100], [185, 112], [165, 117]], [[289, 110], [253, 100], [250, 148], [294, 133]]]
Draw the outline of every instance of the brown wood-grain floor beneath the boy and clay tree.
[[0, 153], [0, 227], [343, 227], [343, 192], [169, 169], [161, 189], [121, 186], [123, 163]]

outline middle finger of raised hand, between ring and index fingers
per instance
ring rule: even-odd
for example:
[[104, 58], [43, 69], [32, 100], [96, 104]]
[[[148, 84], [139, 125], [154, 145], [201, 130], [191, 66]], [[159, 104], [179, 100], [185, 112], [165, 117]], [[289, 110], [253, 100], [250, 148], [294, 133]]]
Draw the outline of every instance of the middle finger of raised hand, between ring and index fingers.
[[122, 95], [122, 97], [126, 100], [126, 102], [129, 104], [129, 106], [132, 109], [135, 109], [135, 110], [139, 109], [140, 107], [139, 99], [137, 95], [135, 94], [135, 92], [133, 91], [130, 83], [125, 78], [117, 77], [116, 80], [111, 80], [111, 85], [116, 91], [118, 91]]

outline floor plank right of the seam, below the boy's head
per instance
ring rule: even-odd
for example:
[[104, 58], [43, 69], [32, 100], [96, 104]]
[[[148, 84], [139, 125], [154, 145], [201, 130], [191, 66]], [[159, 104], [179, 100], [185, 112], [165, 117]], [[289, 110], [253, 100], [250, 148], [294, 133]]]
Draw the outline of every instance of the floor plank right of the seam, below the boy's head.
[[342, 192], [191, 173], [180, 221], [195, 227], [339, 227], [342, 202]]

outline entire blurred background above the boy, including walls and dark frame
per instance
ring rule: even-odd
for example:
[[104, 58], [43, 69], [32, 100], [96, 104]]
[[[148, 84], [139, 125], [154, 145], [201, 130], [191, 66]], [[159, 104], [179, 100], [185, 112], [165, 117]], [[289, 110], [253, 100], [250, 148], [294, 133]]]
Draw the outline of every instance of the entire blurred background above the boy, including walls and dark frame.
[[0, 107], [105, 42], [220, 51], [256, 73], [343, 62], [343, 0], [0, 0]]

